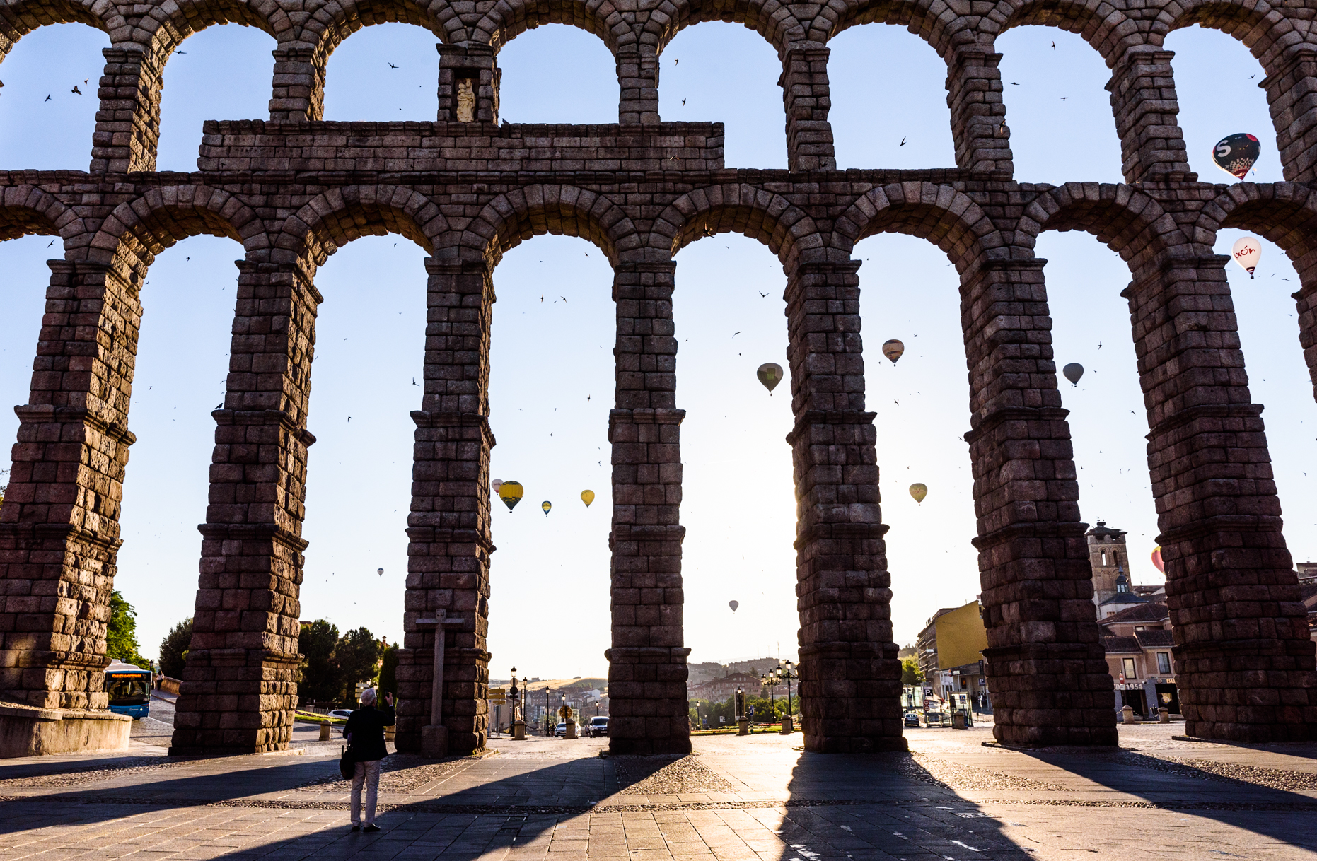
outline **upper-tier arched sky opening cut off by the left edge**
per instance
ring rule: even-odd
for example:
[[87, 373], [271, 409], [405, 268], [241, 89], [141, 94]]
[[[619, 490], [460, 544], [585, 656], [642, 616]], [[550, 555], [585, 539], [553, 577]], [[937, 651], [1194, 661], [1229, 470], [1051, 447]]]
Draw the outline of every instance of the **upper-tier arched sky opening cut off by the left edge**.
[[87, 170], [105, 47], [109, 37], [101, 30], [55, 24], [24, 36], [4, 57], [0, 162], [7, 170]]

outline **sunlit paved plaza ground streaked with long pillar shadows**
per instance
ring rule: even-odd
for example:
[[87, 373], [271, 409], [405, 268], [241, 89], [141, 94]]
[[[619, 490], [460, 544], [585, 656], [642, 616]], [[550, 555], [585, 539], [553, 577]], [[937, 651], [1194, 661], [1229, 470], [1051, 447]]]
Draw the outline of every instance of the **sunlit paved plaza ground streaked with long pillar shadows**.
[[142, 725], [124, 756], [0, 762], [0, 861], [1317, 858], [1317, 746], [1177, 732], [1022, 752], [984, 728], [910, 729], [910, 754], [855, 757], [803, 753], [798, 733], [698, 737], [689, 757], [504, 737], [390, 757], [383, 831], [352, 835], [337, 743], [182, 760]]

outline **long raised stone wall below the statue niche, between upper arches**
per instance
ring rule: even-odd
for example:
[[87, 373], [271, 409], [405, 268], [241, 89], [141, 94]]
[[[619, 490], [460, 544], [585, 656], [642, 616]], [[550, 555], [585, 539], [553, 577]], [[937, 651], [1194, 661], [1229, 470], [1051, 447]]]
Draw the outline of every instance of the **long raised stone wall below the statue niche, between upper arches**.
[[723, 169], [722, 122], [503, 125], [267, 122], [202, 125], [204, 171], [669, 171]]

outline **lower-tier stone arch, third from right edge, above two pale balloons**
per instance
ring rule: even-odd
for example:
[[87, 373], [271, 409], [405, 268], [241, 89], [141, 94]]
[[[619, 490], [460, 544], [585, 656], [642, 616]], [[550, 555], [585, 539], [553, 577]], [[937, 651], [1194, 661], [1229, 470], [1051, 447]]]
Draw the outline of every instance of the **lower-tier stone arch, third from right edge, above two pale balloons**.
[[892, 183], [865, 194], [834, 225], [832, 246], [848, 257], [876, 233], [905, 233], [928, 240], [964, 273], [981, 254], [1005, 258], [1006, 240], [992, 219], [951, 186]]

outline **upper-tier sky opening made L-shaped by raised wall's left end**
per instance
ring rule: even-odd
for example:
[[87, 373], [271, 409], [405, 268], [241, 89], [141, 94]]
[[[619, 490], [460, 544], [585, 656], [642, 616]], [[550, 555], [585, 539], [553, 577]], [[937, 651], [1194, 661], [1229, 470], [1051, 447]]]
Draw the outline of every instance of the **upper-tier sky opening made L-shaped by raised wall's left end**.
[[270, 115], [274, 37], [254, 26], [211, 26], [190, 36], [165, 65], [157, 170], [196, 170], [207, 120]]

